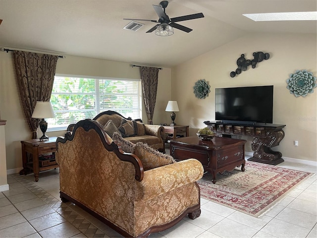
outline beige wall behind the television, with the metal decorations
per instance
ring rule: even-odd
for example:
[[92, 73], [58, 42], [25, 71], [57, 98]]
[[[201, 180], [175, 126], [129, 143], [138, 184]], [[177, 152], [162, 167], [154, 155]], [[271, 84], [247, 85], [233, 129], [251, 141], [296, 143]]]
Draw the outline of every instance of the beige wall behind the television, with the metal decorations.
[[[317, 77], [317, 40], [313, 34], [250, 34], [211, 52], [172, 68], [173, 100], [177, 100], [180, 112], [179, 124], [189, 124], [190, 135], [214, 120], [214, 89], [220, 87], [274, 85], [273, 123], [286, 124], [285, 137], [279, 146], [283, 157], [317, 161], [317, 88], [306, 97], [296, 98], [286, 89], [286, 80], [296, 70], [306, 69]], [[270, 58], [249, 67], [234, 78], [230, 72], [237, 68], [241, 54], [253, 59], [254, 52], [269, 53]], [[199, 79], [206, 79], [211, 93], [206, 99], [198, 99], [193, 86]], [[251, 137], [247, 151], [251, 150]], [[298, 140], [295, 147], [293, 141]]]

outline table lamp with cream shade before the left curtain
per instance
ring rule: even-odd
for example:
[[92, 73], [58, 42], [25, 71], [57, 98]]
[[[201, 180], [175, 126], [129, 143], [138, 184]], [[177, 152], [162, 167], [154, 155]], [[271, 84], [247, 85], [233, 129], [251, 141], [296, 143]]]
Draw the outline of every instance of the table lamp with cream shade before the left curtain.
[[49, 140], [49, 137], [45, 134], [48, 128], [48, 122], [45, 121], [45, 118], [55, 117], [52, 104], [50, 102], [36, 102], [32, 118], [41, 119], [40, 120], [40, 129], [43, 132], [43, 135], [40, 137], [40, 141]]

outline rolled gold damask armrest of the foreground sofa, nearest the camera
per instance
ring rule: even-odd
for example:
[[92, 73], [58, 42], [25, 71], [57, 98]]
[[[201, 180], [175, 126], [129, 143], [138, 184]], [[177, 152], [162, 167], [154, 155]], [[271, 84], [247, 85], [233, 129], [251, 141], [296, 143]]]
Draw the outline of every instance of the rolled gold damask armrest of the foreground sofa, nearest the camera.
[[136, 200], [149, 200], [163, 193], [201, 179], [203, 165], [196, 159], [187, 159], [144, 172], [142, 181], [136, 181]]

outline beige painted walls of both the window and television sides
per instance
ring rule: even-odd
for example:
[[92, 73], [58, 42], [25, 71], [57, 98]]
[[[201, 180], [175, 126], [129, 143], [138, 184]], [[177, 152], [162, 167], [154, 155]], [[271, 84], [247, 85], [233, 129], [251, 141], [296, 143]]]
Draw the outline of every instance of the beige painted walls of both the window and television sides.
[[[219, 47], [172, 69], [159, 70], [159, 85], [154, 113], [154, 124], [169, 123], [165, 112], [168, 100], [177, 100], [180, 112], [175, 122], [188, 124], [190, 135], [204, 127], [205, 120], [214, 119], [214, 89], [217, 87], [238, 87], [274, 85], [273, 123], [286, 124], [285, 137], [273, 150], [283, 157], [316, 162], [317, 158], [317, 88], [313, 94], [295, 98], [286, 89], [286, 79], [297, 69], [307, 69], [317, 76], [316, 35], [252, 34]], [[252, 59], [253, 52], [270, 54], [269, 60], [260, 62], [255, 69], [249, 67], [234, 78], [229, 76], [237, 67], [241, 54]], [[129, 63], [96, 60], [66, 56], [59, 59], [56, 73], [87, 76], [139, 78], [139, 68]], [[206, 79], [211, 93], [206, 99], [198, 99], [193, 86], [199, 79]], [[23, 116], [17, 93], [12, 53], [0, 53], [0, 112], [5, 126], [7, 170], [16, 171], [22, 167], [21, 140], [29, 139], [30, 132]], [[142, 119], [147, 117], [143, 109]], [[64, 131], [48, 132], [49, 136], [63, 135]], [[246, 150], [251, 152], [251, 139]], [[293, 141], [299, 146], [294, 147]]]

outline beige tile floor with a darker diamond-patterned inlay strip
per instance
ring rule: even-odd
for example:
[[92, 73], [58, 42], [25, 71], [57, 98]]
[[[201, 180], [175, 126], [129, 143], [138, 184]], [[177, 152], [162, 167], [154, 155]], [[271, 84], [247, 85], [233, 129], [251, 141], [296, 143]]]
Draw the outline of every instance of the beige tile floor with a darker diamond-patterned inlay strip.
[[[313, 172], [317, 168], [284, 162], [278, 166]], [[73, 203], [59, 199], [58, 169], [33, 175], [8, 175], [0, 192], [0, 237], [121, 237]], [[196, 220], [184, 218], [152, 238], [316, 238], [317, 176], [295, 188], [260, 218], [201, 199]]]

